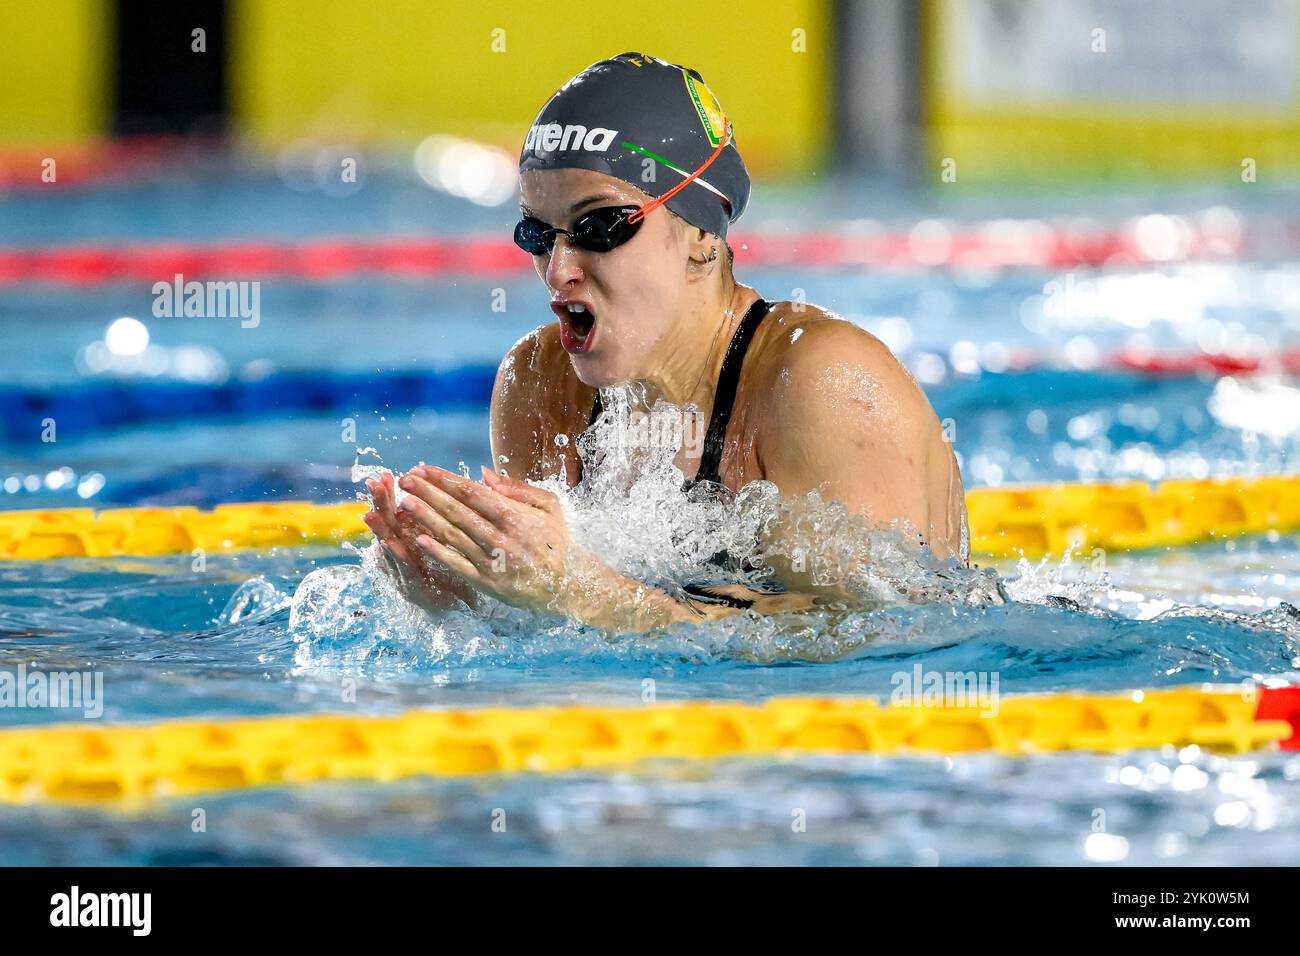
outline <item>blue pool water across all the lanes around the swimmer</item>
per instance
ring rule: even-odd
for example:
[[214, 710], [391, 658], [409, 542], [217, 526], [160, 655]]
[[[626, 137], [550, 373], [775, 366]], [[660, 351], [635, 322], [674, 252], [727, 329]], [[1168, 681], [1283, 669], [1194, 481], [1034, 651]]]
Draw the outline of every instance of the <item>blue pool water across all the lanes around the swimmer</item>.
[[[166, 237], [176, 226], [162, 220], [174, 206], [162, 198], [176, 199], [176, 190], [146, 193], [144, 212], [139, 193], [112, 189], [62, 196], [48, 216], [38, 209], [51, 207], [10, 200], [16, 216], [0, 216], [0, 237], [68, 242], [86, 238], [79, 225], [90, 238]], [[270, 181], [217, 183], [213, 195], [238, 211], [239, 224], [224, 221], [214, 234], [273, 234], [277, 212], [291, 207]], [[781, 208], [774, 202], [755, 215], [775, 220]], [[358, 229], [384, 234], [408, 216], [400, 203], [372, 202]], [[506, 209], [474, 216], [456, 225], [447, 217], [443, 230], [504, 229], [510, 219]], [[312, 228], [342, 229], [343, 221], [334, 209]], [[1170, 263], [1072, 274], [1088, 293], [1063, 312], [1044, 294], [1062, 277], [1036, 271], [741, 277], [768, 298], [806, 295], [894, 347], [952, 421], [968, 488], [1297, 470], [1296, 382], [1145, 376], [1105, 358], [1139, 346], [1294, 347], [1300, 271]], [[399, 471], [417, 460], [488, 463], [481, 403], [412, 398], [402, 384], [411, 373], [490, 369], [515, 338], [546, 321], [532, 276], [264, 286], [263, 320], [250, 329], [153, 319], [147, 284], [0, 287], [0, 388], [10, 394], [57, 395], [75, 410], [99, 401], [94, 388], [105, 381], [173, 401], [285, 373], [332, 384], [315, 406], [281, 393], [238, 415], [178, 418], [160, 398], [144, 403], [139, 420], [69, 427], [53, 442], [36, 437], [39, 423], [6, 423], [0, 507], [348, 499], [359, 492], [351, 481], [359, 447], [377, 449]], [[504, 312], [491, 307], [498, 290]], [[156, 362], [88, 368], [87, 349], [120, 316], [147, 324]], [[376, 403], [368, 397], [377, 388], [395, 398]], [[996, 674], [1001, 693], [1300, 680], [1295, 535], [1106, 555], [1104, 567], [1089, 555], [1000, 562], [971, 572], [980, 588], [988, 584], [982, 600], [811, 620], [733, 619], [612, 640], [508, 613], [412, 624], [363, 566], [352, 548], [208, 555], [202, 570], [190, 555], [3, 562], [0, 667], [103, 671], [109, 722], [636, 706], [647, 680], [656, 700], [884, 698], [894, 675], [918, 665]], [[311, 581], [320, 580], [346, 580], [348, 609], [363, 614], [338, 617], [337, 606], [311, 604]], [[344, 695], [354, 687], [355, 700]], [[0, 709], [0, 726], [66, 719], [81, 715]], [[195, 806], [208, 812], [202, 834], [190, 826]], [[490, 826], [497, 809], [507, 814], [504, 834]], [[1098, 809], [1104, 832], [1095, 827]], [[807, 819], [803, 832], [790, 826], [797, 812]], [[1300, 756], [1196, 748], [1026, 760], [668, 761], [606, 774], [272, 788], [133, 812], [0, 808], [0, 858], [14, 864], [1249, 865], [1290, 862], [1297, 849]]]

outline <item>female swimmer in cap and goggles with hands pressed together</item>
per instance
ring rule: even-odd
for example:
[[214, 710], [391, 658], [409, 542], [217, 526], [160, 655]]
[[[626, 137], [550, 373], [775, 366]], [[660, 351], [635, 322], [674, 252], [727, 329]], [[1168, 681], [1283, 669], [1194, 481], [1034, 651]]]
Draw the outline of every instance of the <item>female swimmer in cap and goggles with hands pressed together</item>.
[[508, 460], [510, 476], [421, 466], [398, 481], [400, 507], [391, 476], [369, 483], [365, 522], [412, 598], [436, 609], [490, 594], [611, 631], [814, 600], [820, 585], [790, 561], [772, 566], [781, 594], [679, 597], [572, 542], [556, 496], [528, 481], [576, 485], [577, 442], [556, 436], [581, 434], [599, 389], [628, 384], [647, 407], [694, 405], [708, 423], [676, 457], [694, 481], [734, 492], [764, 479], [783, 497], [819, 489], [966, 561], [957, 460], [906, 369], [857, 325], [736, 281], [727, 230], [749, 190], [733, 130], [693, 70], [623, 53], [546, 103], [520, 156], [515, 242], [556, 321], [516, 342], [497, 375], [493, 460]]

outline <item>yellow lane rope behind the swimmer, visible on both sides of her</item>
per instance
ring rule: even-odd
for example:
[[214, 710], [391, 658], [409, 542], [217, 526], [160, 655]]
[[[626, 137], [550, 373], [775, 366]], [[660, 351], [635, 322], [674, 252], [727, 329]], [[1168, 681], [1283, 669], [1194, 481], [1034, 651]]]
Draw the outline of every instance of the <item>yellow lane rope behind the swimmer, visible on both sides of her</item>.
[[[1124, 551], [1300, 531], [1300, 475], [976, 488], [966, 496], [976, 558]], [[0, 511], [0, 558], [143, 557], [338, 542], [369, 535], [359, 502]]]

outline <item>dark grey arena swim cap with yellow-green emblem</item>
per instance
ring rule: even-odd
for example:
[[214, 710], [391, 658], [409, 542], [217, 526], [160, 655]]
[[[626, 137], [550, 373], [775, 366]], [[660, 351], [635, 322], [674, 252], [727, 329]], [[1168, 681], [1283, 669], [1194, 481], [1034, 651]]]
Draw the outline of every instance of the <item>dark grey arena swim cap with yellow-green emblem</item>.
[[[714, 153], [725, 122], [718, 98], [694, 70], [619, 53], [588, 66], [542, 107], [519, 155], [519, 172], [590, 169], [659, 198]], [[748, 203], [749, 170], [733, 134], [708, 169], [666, 206], [727, 238], [727, 226]]]

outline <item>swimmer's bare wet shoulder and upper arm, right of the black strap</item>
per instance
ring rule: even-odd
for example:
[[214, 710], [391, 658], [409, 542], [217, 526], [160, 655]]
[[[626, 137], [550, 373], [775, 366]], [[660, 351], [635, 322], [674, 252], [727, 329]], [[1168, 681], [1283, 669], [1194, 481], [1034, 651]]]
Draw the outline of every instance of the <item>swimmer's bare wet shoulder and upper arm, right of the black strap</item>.
[[[819, 323], [790, 350], [759, 433], [763, 477], [783, 497], [819, 489], [872, 524], [906, 522], [928, 535], [928, 449], [937, 423], [906, 369], [874, 337], [848, 323]], [[826, 594], [796, 571], [793, 544], [767, 542], [790, 591]], [[832, 587], [837, 592], [838, 588]]]

